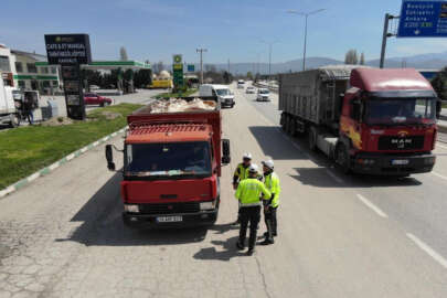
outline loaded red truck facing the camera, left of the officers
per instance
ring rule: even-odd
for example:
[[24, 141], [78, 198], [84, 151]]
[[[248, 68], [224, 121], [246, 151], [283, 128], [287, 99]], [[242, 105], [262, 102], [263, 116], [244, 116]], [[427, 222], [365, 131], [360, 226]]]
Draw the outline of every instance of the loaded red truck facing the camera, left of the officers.
[[[187, 102], [193, 98], [183, 97]], [[211, 225], [220, 206], [220, 177], [230, 163], [221, 108], [153, 113], [148, 105], [128, 116], [124, 143], [123, 220], [130, 226]], [[115, 170], [113, 146], [106, 146]]]

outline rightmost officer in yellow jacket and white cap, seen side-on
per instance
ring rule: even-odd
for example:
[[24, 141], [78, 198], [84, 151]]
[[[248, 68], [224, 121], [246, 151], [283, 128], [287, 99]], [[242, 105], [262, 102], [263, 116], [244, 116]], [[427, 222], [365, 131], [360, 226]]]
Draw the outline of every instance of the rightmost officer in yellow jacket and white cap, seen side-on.
[[265, 241], [262, 242], [263, 245], [274, 244], [274, 237], [278, 235], [277, 232], [277, 217], [276, 211], [279, 206], [279, 193], [281, 188], [279, 184], [279, 178], [274, 172], [274, 162], [272, 159], [263, 161], [264, 171], [264, 184], [267, 190], [272, 193], [270, 200], [265, 201], [264, 204], [264, 220], [267, 226], [267, 232], [264, 233]]

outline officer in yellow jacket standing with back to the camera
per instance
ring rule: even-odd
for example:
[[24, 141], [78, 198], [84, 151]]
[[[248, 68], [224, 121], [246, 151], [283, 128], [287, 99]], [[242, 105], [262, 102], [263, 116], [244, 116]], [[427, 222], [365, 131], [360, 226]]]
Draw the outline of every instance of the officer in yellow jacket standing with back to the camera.
[[270, 199], [270, 192], [264, 183], [257, 179], [258, 167], [251, 164], [248, 167], [248, 178], [240, 182], [236, 190], [236, 199], [241, 203], [241, 230], [237, 248], [245, 248], [245, 237], [249, 223], [248, 255], [253, 255], [256, 245], [257, 225], [260, 220], [260, 200]]

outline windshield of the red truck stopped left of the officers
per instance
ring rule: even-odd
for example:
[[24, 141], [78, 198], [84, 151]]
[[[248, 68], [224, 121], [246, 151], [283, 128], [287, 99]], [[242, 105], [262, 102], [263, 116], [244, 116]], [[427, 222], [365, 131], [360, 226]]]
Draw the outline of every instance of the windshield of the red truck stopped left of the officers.
[[132, 143], [126, 147], [126, 175], [211, 174], [210, 145], [201, 142]]

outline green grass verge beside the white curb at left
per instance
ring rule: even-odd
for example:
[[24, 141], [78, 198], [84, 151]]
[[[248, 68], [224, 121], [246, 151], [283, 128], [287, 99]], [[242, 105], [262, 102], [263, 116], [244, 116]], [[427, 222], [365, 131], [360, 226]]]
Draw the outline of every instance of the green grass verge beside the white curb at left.
[[120, 104], [92, 110], [87, 121], [0, 131], [0, 190], [121, 129], [127, 124], [126, 116], [139, 107]]

